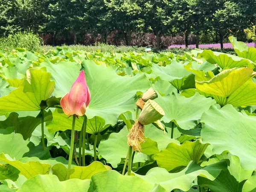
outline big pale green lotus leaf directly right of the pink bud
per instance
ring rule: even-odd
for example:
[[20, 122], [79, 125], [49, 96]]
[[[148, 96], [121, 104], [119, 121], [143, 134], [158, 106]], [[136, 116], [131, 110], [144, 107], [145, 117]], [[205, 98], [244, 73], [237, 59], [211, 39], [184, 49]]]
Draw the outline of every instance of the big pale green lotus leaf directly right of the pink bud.
[[106, 124], [116, 124], [121, 113], [134, 111], [137, 91], [145, 92], [150, 87], [144, 74], [122, 77], [110, 67], [96, 64], [83, 67], [91, 93], [91, 101], [86, 109], [89, 119], [101, 116]]

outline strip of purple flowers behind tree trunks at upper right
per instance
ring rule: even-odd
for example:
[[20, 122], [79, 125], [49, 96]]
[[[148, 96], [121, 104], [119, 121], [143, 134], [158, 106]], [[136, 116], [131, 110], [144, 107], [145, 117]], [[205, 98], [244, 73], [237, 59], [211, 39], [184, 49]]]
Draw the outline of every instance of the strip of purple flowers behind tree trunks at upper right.
[[[254, 47], [254, 43], [248, 43], [247, 46], [248, 47]], [[183, 49], [185, 49], [185, 45], [170, 45], [168, 48], [169, 49], [170, 48], [183, 48]], [[195, 49], [195, 44], [194, 45], [189, 45], [189, 48]], [[220, 49], [221, 44], [201, 44], [201, 45], [199, 45], [199, 49], [210, 49], [210, 48]], [[223, 44], [223, 48], [233, 49], [233, 46], [232, 46], [231, 43], [226, 43], [226, 44]]]

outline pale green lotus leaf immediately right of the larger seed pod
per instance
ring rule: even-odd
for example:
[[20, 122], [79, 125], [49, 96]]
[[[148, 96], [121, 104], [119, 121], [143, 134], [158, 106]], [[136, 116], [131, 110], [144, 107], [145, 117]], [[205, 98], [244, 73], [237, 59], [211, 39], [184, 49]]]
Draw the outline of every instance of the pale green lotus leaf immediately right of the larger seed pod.
[[215, 100], [205, 98], [199, 93], [186, 98], [180, 94], [172, 94], [169, 96], [158, 96], [155, 101], [163, 108], [165, 116], [164, 122], [174, 121], [177, 126], [182, 129], [192, 129], [200, 122], [201, 115], [207, 111], [211, 105], [215, 104]]

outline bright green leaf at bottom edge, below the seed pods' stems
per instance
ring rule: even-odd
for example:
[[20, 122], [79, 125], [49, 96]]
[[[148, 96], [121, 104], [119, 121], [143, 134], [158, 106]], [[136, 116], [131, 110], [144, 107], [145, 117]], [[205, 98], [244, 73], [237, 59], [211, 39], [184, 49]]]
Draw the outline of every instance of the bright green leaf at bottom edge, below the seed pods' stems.
[[140, 177], [121, 175], [109, 170], [92, 176], [92, 191], [97, 192], [166, 192], [163, 187]]

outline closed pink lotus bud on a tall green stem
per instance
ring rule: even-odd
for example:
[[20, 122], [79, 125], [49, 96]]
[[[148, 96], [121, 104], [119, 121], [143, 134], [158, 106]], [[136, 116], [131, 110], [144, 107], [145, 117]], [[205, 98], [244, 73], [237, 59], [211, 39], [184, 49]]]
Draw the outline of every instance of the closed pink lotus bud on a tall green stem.
[[81, 71], [70, 92], [61, 98], [61, 107], [68, 116], [83, 116], [89, 103], [90, 90], [86, 84], [84, 71]]

